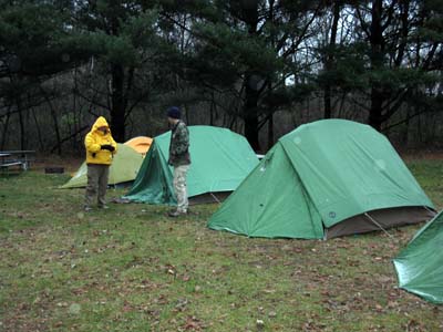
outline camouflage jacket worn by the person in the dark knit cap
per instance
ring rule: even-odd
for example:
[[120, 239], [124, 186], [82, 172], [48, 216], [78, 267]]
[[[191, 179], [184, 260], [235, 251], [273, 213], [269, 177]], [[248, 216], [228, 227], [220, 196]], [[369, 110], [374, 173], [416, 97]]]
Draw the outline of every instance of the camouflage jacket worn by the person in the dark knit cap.
[[169, 160], [173, 166], [182, 166], [190, 164], [189, 156], [189, 131], [183, 121], [171, 131]]

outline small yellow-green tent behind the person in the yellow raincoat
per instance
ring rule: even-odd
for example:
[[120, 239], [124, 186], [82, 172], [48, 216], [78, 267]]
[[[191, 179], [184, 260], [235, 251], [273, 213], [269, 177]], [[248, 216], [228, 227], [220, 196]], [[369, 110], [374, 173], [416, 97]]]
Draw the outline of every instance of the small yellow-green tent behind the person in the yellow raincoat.
[[[110, 167], [109, 185], [116, 185], [135, 179], [140, 166], [143, 163], [143, 155], [138, 154], [128, 145], [117, 144], [117, 153]], [[75, 175], [61, 188], [81, 188], [87, 185], [87, 166], [83, 163]]]

